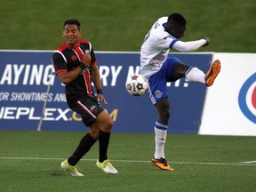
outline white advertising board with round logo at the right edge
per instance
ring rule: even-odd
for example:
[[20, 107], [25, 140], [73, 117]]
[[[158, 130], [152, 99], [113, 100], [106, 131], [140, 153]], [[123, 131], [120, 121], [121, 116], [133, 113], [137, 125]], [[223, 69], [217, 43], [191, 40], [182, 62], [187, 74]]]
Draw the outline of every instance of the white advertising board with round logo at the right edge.
[[206, 91], [199, 134], [256, 136], [256, 53], [215, 53], [220, 75]]

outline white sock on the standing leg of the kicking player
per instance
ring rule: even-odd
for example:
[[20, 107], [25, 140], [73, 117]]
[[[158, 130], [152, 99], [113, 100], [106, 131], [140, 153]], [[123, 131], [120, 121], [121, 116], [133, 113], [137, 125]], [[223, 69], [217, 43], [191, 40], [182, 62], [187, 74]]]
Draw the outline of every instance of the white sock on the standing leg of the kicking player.
[[156, 121], [155, 126], [155, 155], [156, 159], [160, 159], [161, 157], [165, 158], [164, 156], [164, 144], [167, 136], [167, 125], [161, 124]]

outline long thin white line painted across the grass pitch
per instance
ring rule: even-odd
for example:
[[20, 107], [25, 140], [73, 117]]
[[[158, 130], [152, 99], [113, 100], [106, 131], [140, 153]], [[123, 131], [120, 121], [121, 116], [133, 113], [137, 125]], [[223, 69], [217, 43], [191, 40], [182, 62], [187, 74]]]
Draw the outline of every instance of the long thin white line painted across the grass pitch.
[[[0, 156], [0, 159], [17, 159], [17, 160], [64, 160], [65, 158], [46, 158], [46, 157], [19, 157], [19, 156]], [[96, 161], [96, 159], [81, 159], [81, 161]], [[120, 163], [151, 163], [150, 161], [139, 160], [111, 160]], [[169, 162], [170, 164], [210, 164], [210, 165], [252, 165], [256, 166], [256, 161], [242, 163], [211, 163], [211, 162]]]

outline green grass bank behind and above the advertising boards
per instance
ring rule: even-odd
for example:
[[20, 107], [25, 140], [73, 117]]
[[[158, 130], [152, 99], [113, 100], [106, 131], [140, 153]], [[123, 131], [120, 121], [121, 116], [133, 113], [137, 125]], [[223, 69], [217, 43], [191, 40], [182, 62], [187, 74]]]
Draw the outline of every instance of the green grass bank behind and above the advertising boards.
[[172, 12], [188, 20], [183, 40], [209, 36], [199, 52], [255, 52], [254, 0], [0, 0], [0, 49], [55, 50], [64, 20], [82, 22], [96, 51], [139, 52], [157, 18]]

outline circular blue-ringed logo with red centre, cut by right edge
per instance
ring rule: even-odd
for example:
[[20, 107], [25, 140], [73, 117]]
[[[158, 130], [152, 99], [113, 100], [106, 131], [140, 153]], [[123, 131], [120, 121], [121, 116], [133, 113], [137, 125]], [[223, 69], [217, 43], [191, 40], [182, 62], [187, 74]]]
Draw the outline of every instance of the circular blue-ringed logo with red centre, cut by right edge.
[[238, 102], [244, 116], [256, 124], [256, 73], [250, 76], [242, 85]]

